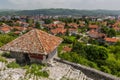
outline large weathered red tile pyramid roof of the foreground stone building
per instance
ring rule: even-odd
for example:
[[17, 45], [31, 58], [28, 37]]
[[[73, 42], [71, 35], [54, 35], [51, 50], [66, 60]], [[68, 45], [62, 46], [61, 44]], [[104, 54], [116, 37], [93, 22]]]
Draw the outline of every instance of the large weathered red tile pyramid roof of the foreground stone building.
[[1, 47], [1, 50], [22, 53], [47, 55], [62, 42], [62, 39], [41, 30], [31, 30], [12, 42]]

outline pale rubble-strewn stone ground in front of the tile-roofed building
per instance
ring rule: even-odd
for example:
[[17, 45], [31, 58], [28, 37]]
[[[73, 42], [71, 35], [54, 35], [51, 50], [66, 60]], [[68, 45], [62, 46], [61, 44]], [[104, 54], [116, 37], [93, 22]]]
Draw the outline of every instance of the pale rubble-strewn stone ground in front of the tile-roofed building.
[[51, 66], [44, 68], [44, 70], [49, 71], [49, 77], [42, 78], [30, 74], [26, 75], [26, 70], [22, 68], [6, 68], [5, 63], [0, 62], [0, 80], [93, 80], [70, 65], [55, 61], [50, 64]]

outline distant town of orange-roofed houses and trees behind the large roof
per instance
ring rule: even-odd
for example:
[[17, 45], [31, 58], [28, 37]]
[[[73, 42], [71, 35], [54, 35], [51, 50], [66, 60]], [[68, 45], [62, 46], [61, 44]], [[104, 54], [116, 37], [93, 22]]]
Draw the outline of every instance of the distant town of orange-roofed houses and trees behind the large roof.
[[119, 19], [119, 16], [1, 16], [0, 32], [1, 34], [11, 32], [15, 35], [22, 35], [22, 33], [37, 28], [52, 35], [76, 35], [95, 40], [96, 42], [114, 44], [119, 41]]

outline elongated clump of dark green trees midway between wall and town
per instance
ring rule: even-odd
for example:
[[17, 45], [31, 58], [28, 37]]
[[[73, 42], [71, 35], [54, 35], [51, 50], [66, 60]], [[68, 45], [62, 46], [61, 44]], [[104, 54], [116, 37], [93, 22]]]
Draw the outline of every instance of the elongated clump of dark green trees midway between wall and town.
[[85, 56], [91, 61], [106, 60], [108, 58], [108, 51], [104, 47], [90, 45], [87, 46], [80, 42], [76, 42], [73, 45], [73, 51]]

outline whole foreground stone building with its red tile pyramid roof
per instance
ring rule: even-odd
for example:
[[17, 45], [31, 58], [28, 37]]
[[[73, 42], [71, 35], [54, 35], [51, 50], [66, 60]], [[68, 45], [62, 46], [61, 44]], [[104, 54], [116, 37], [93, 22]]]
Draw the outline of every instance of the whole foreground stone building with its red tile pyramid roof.
[[59, 37], [33, 29], [0, 49], [10, 51], [18, 62], [45, 63], [57, 54], [57, 47], [61, 42]]

